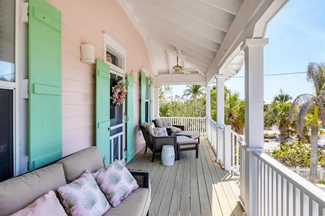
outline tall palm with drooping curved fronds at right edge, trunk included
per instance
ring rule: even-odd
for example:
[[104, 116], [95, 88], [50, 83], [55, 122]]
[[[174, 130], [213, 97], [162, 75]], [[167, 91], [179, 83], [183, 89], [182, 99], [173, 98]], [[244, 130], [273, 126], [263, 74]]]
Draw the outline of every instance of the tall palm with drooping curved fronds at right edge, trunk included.
[[311, 126], [311, 157], [310, 157], [310, 174], [309, 181], [313, 184], [317, 181], [317, 144], [318, 144], [318, 111], [321, 113], [321, 121], [324, 124], [325, 110], [325, 63], [310, 62], [307, 66], [307, 81], [314, 83], [315, 96], [312, 94], [301, 94], [296, 97], [291, 104], [289, 120], [294, 121], [295, 112], [300, 107], [297, 116], [297, 132], [303, 137], [304, 121], [308, 113], [314, 115]]

